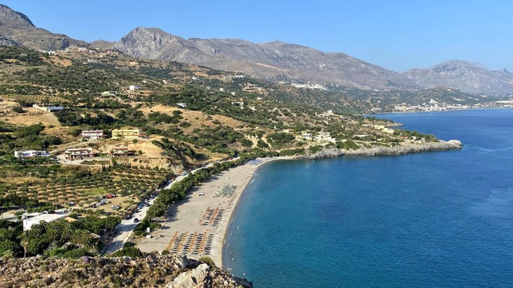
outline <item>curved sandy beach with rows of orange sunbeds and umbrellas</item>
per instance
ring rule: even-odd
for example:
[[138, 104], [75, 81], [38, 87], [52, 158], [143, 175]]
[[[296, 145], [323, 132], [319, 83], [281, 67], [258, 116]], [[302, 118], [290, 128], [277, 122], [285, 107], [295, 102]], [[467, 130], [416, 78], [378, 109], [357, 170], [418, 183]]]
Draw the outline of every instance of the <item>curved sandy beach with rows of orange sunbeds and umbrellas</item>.
[[223, 266], [223, 242], [233, 210], [261, 164], [275, 159], [257, 159], [212, 176], [188, 192], [186, 199], [171, 205], [161, 229], [152, 238], [138, 241], [141, 251], [183, 253], [192, 258], [210, 256]]

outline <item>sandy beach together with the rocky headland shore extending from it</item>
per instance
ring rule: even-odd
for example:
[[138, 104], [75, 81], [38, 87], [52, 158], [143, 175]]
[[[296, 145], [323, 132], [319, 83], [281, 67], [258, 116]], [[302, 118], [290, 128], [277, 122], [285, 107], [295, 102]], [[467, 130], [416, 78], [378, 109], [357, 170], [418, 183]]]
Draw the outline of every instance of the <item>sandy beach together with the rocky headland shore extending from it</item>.
[[[457, 140], [423, 145], [406, 145], [396, 148], [363, 148], [359, 150], [323, 149], [316, 154], [258, 158], [235, 166], [192, 188], [181, 201], [167, 210], [163, 225], [152, 231], [150, 238], [137, 241], [143, 252], [168, 250], [171, 254], [186, 254], [190, 258], [209, 256], [216, 266], [223, 267], [223, 249], [228, 228], [235, 217], [240, 197], [264, 164], [278, 160], [322, 159], [342, 156], [405, 155], [434, 150], [459, 150]], [[216, 191], [217, 192], [214, 192]], [[229, 197], [220, 192], [229, 191]]]

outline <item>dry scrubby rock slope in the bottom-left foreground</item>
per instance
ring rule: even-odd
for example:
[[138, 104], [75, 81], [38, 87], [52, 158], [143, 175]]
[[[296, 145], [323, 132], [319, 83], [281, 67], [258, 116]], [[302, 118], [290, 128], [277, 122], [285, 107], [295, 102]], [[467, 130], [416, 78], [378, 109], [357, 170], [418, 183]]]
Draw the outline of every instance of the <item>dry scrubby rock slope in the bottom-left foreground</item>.
[[252, 287], [183, 255], [0, 259], [0, 287]]

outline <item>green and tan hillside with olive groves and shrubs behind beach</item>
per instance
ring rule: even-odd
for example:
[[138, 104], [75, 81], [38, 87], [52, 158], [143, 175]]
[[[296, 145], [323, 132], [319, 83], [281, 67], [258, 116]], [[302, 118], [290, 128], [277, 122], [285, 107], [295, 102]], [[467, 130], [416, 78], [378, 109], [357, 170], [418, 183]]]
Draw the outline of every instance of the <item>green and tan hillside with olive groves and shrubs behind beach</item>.
[[[304, 155], [307, 149], [316, 153], [323, 148], [356, 150], [407, 140], [436, 141], [434, 136], [417, 131], [384, 133], [371, 126], [387, 126], [389, 122], [354, 114], [370, 111], [377, 107], [377, 101], [383, 109], [406, 101], [407, 96], [413, 96], [411, 91], [387, 100], [392, 92], [344, 87], [328, 91], [298, 89], [180, 63], [138, 59], [134, 66], [127, 64], [134, 59], [121, 54], [105, 53], [96, 63], [84, 64], [89, 57], [86, 53], [48, 56], [27, 48], [0, 47], [0, 95], [15, 103], [0, 111], [4, 116], [0, 122], [0, 171], [4, 175], [0, 180], [0, 207], [22, 207], [28, 212], [69, 207], [74, 208], [72, 216], [77, 218], [71, 223], [39, 223], [27, 233], [19, 224], [0, 221], [0, 256], [95, 255], [102, 237], [119, 223], [119, 216], [134, 211], [135, 198], [153, 193], [176, 171], [217, 159], [238, 156], [189, 174], [160, 191], [134, 235], [145, 235], [148, 227], [158, 228], [151, 219], [164, 215], [169, 205], [186, 197], [190, 188], [248, 159]], [[141, 84], [143, 89], [127, 91], [133, 84]], [[433, 93], [415, 95], [426, 98], [434, 97]], [[447, 99], [455, 95], [436, 93]], [[66, 109], [41, 117], [37, 114], [34, 122], [34, 108], [29, 107], [34, 103], [64, 105]], [[178, 108], [178, 103], [184, 103], [185, 108]], [[333, 112], [326, 116], [326, 110]], [[47, 122], [37, 123], [39, 119]], [[77, 140], [82, 130], [103, 129], [110, 136], [112, 129], [126, 127], [141, 129], [148, 138], [89, 143]], [[329, 132], [337, 142], [300, 137], [301, 133], [317, 136], [321, 131]], [[108, 157], [114, 145], [129, 145], [134, 157]], [[53, 157], [13, 156], [14, 150], [30, 149], [62, 155], [70, 147], [91, 147], [104, 158], [71, 166], [58, 164]], [[89, 209], [106, 194], [126, 197], [122, 211], [113, 212], [117, 216], [100, 217], [102, 209]], [[100, 240], [91, 233], [100, 235]], [[128, 245], [117, 255], [142, 254]], [[208, 257], [202, 263], [215, 267]], [[117, 283], [118, 279], [112, 277], [112, 281]]]

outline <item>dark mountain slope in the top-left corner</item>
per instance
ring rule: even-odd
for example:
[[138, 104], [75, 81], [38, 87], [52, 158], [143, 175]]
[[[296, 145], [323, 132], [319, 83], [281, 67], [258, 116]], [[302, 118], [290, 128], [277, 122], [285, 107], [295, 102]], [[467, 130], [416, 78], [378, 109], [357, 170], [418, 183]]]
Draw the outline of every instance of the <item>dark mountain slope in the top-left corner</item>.
[[[84, 41], [67, 37], [65, 34], [53, 34], [34, 26], [27, 15], [13, 11], [0, 4], [0, 35], [30, 48], [58, 50], [70, 45], [89, 46]], [[5, 42], [0, 39], [0, 44]]]

